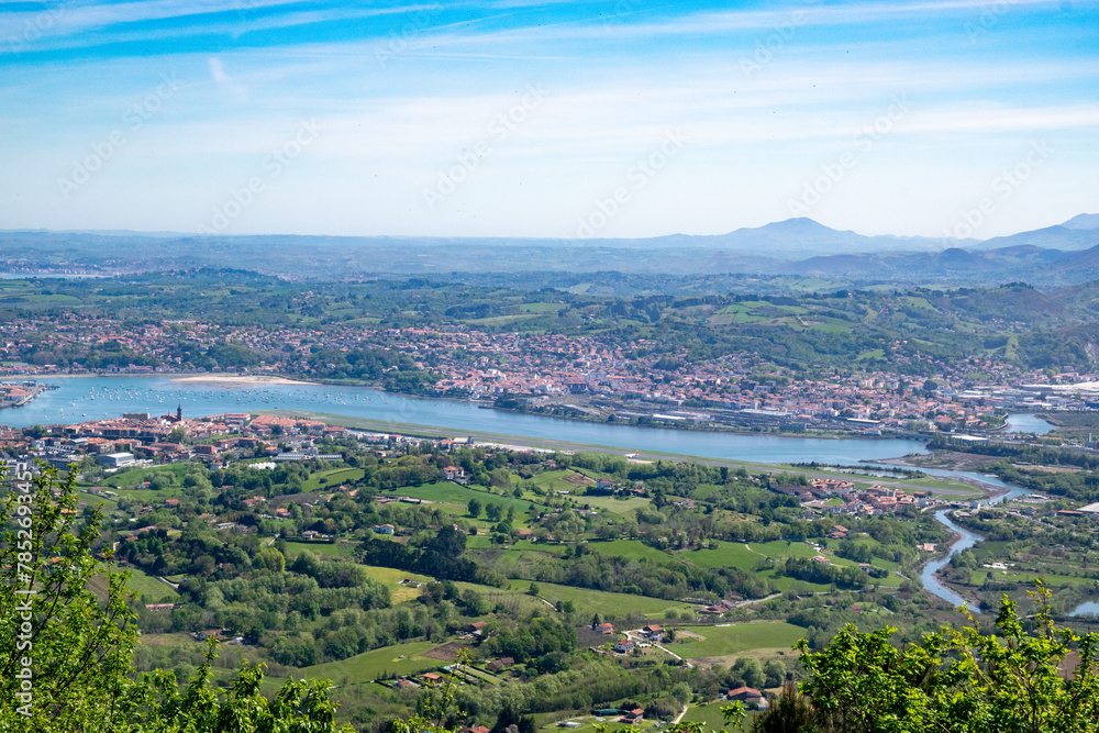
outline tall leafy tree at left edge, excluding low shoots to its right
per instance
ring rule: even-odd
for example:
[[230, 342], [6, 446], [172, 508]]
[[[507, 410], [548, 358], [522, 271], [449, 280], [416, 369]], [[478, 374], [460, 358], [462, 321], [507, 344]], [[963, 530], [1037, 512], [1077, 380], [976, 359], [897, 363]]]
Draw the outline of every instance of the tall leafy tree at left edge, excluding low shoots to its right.
[[[104, 729], [120, 721], [137, 643], [125, 576], [92, 549], [102, 514], [77, 521], [75, 477], [16, 468], [0, 514], [0, 730]], [[58, 496], [53, 496], [54, 489]], [[88, 589], [102, 579], [101, 606]]]

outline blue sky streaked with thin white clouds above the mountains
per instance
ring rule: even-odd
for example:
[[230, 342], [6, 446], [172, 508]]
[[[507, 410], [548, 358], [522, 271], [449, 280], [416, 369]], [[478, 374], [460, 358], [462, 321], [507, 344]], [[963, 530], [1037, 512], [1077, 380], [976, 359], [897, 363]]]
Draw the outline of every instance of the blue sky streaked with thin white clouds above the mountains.
[[0, 229], [984, 240], [1097, 173], [1099, 1], [0, 0]]

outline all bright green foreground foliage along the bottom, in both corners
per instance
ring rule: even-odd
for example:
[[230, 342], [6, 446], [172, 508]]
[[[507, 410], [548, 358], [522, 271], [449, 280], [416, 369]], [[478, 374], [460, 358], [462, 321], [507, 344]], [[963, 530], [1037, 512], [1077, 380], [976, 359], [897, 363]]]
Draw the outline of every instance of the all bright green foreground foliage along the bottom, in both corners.
[[[125, 575], [106, 569], [97, 547], [101, 518], [78, 519], [71, 476], [21, 473], [0, 501], [0, 731], [69, 733], [336, 733], [328, 682], [297, 680], [270, 699], [263, 667], [245, 664], [227, 689], [214, 684], [211, 647], [180, 687], [170, 673], [134, 676], [137, 633]], [[97, 558], [96, 554], [99, 554]], [[106, 600], [92, 592], [102, 587]], [[1099, 635], [1057, 628], [1050, 592], [1032, 593], [1039, 612], [1020, 618], [1004, 599], [996, 630], [944, 628], [896, 647], [892, 629], [844, 628], [824, 649], [801, 642], [809, 675], [792, 685], [758, 731], [801, 733], [1097, 733]], [[452, 680], [453, 684], [453, 680]], [[426, 696], [395, 733], [454, 730], [453, 688]], [[434, 707], [433, 707], [434, 706]], [[723, 709], [739, 724], [739, 704]], [[529, 718], [514, 711], [518, 723]], [[510, 731], [512, 726], [508, 726]], [[517, 724], [515, 733], [523, 725]], [[703, 733], [698, 723], [674, 733]]]

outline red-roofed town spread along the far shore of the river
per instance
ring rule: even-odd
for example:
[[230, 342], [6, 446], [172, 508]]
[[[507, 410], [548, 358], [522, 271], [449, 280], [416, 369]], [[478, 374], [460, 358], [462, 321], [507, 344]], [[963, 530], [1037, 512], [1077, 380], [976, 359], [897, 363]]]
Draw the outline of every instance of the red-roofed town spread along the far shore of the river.
[[[919, 376], [854, 366], [796, 370], [747, 353], [691, 362], [685, 355], [646, 356], [654, 344], [642, 338], [607, 343], [595, 336], [488, 333], [464, 325], [321, 330], [164, 321], [124, 327], [119, 321], [69, 315], [15, 321], [2, 330], [2, 375], [281, 375], [385, 385], [392, 391], [485, 400], [569, 418], [682, 427], [973, 433], [1002, 426], [1002, 414], [1012, 410], [1089, 409], [1097, 402], [1088, 390], [1099, 380], [1099, 375], [1070, 366], [1024, 370], [989, 358], [951, 364], [919, 354], [897, 358], [900, 368], [920, 362]], [[92, 366], [65, 356], [79, 347], [124, 349], [140, 355], [135, 360], [141, 363], [115, 359]], [[231, 347], [240, 358], [202, 365], [189, 358], [190, 351], [220, 347]], [[349, 362], [364, 354], [385, 355], [392, 366], [376, 370], [373, 379], [348, 374]], [[385, 381], [395, 373], [420, 378]], [[37, 388], [10, 384], [4, 389], [7, 406], [33, 399], [25, 390]]]

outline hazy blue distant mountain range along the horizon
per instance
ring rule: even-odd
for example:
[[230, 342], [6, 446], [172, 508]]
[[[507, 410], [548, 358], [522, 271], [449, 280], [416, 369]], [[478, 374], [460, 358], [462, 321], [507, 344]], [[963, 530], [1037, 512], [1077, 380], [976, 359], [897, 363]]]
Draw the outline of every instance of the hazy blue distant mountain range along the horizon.
[[0, 270], [135, 273], [197, 267], [291, 278], [462, 274], [729, 274], [829, 281], [1022, 280], [1070, 286], [1099, 279], [1099, 214], [986, 241], [864, 236], [811, 219], [720, 235], [552, 240], [419, 236], [198, 236], [170, 232], [0, 231]]

